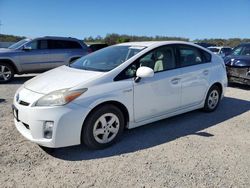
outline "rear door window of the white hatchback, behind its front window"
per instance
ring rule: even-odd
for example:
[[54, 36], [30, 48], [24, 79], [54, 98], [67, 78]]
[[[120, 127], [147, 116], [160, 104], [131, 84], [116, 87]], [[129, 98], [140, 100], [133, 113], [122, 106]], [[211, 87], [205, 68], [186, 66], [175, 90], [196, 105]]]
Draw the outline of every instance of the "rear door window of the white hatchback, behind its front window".
[[178, 49], [181, 67], [211, 62], [211, 55], [199, 48], [188, 45], [180, 45]]

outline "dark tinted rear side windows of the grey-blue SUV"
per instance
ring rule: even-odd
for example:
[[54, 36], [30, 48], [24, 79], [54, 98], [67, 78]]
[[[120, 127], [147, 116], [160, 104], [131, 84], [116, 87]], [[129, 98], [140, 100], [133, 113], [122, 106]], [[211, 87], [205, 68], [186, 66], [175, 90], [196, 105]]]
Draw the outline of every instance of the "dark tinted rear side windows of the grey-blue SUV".
[[82, 46], [76, 41], [49, 40], [50, 49], [81, 49]]

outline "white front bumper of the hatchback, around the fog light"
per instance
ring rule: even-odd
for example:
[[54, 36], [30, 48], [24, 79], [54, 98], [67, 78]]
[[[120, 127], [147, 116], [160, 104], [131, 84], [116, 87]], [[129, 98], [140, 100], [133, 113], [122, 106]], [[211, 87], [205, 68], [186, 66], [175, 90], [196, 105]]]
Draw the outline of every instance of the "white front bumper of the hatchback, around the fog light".
[[[14, 100], [14, 123], [28, 140], [39, 145], [58, 148], [81, 143], [81, 130], [90, 109], [74, 103], [56, 107], [24, 106]], [[44, 122], [53, 121], [51, 139], [44, 137]]]

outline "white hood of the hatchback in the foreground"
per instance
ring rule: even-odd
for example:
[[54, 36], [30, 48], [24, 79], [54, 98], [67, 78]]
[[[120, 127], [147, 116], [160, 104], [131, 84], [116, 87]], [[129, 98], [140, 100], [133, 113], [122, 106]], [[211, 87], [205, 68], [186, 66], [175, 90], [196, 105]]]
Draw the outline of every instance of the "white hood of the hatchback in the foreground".
[[78, 84], [87, 83], [103, 74], [103, 72], [61, 66], [25, 82], [24, 87], [36, 93], [48, 94], [52, 91], [72, 88]]

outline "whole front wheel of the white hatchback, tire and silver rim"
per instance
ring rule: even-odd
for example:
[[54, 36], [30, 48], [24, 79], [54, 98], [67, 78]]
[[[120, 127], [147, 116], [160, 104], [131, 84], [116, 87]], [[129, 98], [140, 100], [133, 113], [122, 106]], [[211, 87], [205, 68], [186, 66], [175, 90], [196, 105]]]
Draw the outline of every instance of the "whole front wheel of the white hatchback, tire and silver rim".
[[114, 105], [104, 105], [93, 111], [82, 129], [82, 142], [91, 149], [103, 149], [114, 144], [124, 130], [124, 116]]

